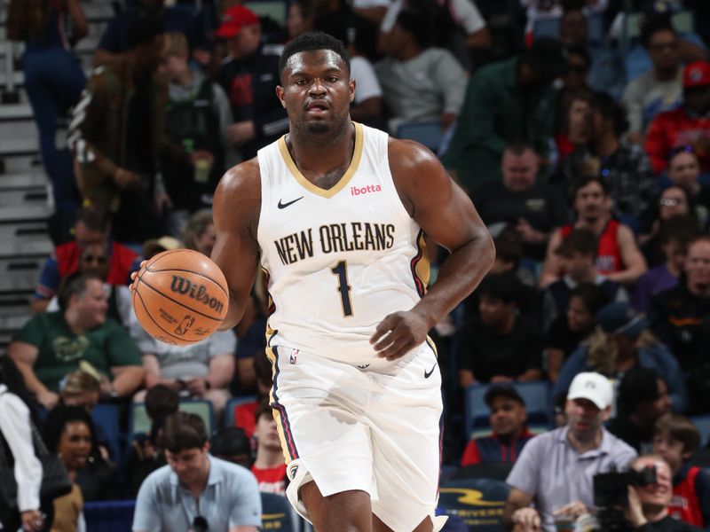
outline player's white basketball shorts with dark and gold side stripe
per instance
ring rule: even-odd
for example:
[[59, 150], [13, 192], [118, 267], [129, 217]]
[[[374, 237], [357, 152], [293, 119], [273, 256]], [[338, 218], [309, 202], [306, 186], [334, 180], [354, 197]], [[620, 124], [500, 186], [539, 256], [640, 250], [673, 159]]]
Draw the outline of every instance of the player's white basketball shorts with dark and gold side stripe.
[[394, 362], [352, 364], [283, 346], [267, 349], [272, 408], [288, 462], [287, 495], [315, 481], [323, 496], [366, 491], [373, 512], [411, 532], [438, 502], [441, 374], [433, 343]]

